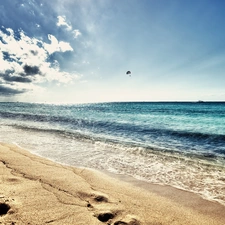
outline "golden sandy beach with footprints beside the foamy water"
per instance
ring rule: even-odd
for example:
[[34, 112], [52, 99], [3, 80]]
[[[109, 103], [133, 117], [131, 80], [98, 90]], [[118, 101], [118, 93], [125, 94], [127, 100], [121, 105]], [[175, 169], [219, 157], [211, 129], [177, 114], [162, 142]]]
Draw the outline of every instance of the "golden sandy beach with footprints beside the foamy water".
[[0, 224], [224, 225], [225, 207], [0, 144]]

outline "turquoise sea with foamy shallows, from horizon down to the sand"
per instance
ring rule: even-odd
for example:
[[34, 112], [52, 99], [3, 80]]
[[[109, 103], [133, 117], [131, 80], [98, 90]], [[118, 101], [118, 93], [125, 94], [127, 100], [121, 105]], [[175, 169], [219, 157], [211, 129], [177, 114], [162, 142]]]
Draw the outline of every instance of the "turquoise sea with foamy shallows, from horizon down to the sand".
[[1, 102], [0, 141], [225, 205], [225, 102]]

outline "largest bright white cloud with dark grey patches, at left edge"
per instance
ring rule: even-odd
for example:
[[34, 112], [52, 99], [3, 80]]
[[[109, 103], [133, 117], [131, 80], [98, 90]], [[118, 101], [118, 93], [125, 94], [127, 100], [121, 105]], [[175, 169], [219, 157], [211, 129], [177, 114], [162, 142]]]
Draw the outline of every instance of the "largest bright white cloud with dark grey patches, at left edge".
[[[79, 75], [61, 71], [59, 63], [49, 61], [54, 52], [73, 51], [69, 43], [48, 35], [50, 44], [28, 37], [23, 31], [18, 36], [12, 29], [0, 30], [0, 92], [5, 95], [24, 93], [39, 84], [55, 81], [68, 83]], [[36, 88], [35, 88], [36, 87]]]

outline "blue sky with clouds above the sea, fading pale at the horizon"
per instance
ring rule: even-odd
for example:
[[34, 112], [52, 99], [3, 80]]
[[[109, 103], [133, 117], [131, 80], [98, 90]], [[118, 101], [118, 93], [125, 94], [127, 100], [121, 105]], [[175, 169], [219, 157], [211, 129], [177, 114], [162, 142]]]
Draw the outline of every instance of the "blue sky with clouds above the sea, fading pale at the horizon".
[[225, 101], [224, 12], [220, 0], [0, 0], [0, 101]]

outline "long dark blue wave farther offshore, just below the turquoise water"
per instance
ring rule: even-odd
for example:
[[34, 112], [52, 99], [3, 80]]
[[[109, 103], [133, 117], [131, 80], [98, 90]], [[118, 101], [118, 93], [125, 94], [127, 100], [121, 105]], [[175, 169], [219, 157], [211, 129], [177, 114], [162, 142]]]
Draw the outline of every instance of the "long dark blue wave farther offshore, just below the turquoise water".
[[[225, 135], [215, 133], [194, 132], [187, 130], [174, 130], [168, 128], [155, 128], [144, 123], [135, 124], [130, 122], [119, 122], [110, 120], [74, 118], [61, 115], [44, 115], [44, 114], [29, 114], [18, 112], [1, 112], [0, 118], [10, 119], [15, 125], [21, 125], [19, 121], [30, 121], [47, 123], [49, 128], [54, 128], [55, 125], [62, 130], [73, 130], [80, 132], [89, 132], [97, 134], [105, 134], [115, 136], [115, 138], [123, 137], [133, 140], [155, 140], [159, 137], [165, 140], [177, 139], [180, 141], [199, 142], [203, 144], [213, 144], [215, 146], [225, 145]], [[17, 123], [18, 122], [18, 123]], [[25, 126], [25, 125], [24, 125]], [[28, 125], [26, 125], [28, 127]]]

